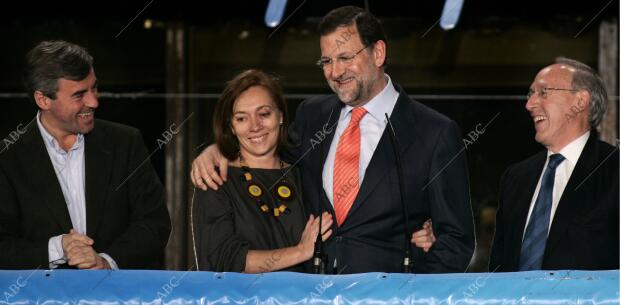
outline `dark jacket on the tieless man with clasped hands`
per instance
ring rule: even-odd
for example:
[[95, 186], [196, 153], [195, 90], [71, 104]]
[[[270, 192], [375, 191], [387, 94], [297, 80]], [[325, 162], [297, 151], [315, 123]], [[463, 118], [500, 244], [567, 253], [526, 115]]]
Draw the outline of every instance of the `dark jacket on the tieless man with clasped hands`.
[[[161, 268], [170, 218], [140, 132], [96, 120], [85, 145], [86, 234], [93, 248], [121, 269]], [[50, 237], [72, 225], [36, 122], [0, 154], [0, 201], [0, 268], [47, 268]]]

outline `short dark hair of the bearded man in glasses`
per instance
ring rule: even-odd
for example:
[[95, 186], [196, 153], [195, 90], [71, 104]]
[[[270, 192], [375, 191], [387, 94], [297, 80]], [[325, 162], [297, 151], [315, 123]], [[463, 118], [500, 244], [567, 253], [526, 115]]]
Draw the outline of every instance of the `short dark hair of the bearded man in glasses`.
[[357, 6], [343, 6], [331, 10], [319, 23], [319, 35], [325, 36], [333, 33], [341, 26], [355, 25], [360, 40], [365, 47], [383, 40], [386, 45], [387, 62], [387, 39], [383, 26], [377, 17], [370, 12]]

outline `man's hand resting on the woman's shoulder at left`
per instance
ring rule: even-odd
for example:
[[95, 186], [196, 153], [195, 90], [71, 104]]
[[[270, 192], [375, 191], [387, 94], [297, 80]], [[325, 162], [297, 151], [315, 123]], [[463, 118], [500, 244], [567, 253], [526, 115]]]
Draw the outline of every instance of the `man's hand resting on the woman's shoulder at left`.
[[[220, 169], [219, 174], [215, 170], [216, 166]], [[217, 190], [226, 181], [227, 176], [228, 159], [222, 156], [215, 144], [205, 148], [192, 162], [190, 173], [192, 183], [204, 191], [209, 188]]]

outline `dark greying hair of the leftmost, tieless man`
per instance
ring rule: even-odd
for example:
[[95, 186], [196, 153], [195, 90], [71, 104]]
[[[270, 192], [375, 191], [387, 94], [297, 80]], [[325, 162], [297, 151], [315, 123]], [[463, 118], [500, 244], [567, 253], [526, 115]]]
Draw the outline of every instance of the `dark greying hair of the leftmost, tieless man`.
[[93, 57], [83, 47], [62, 40], [42, 41], [26, 55], [25, 87], [31, 98], [41, 91], [56, 99], [59, 79], [80, 81], [92, 68]]

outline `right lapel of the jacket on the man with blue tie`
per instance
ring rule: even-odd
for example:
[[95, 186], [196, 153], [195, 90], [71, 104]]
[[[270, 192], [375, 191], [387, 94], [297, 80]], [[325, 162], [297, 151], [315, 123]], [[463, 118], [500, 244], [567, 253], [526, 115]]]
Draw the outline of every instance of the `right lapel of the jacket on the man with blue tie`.
[[[579, 208], [585, 203], [583, 197], [587, 192], [585, 181], [597, 167], [598, 145], [597, 135], [591, 131], [588, 141], [577, 160], [575, 169], [562, 192], [562, 197], [553, 217], [553, 223], [547, 238], [545, 253], [549, 253], [558, 244], [564, 231], [568, 228], [574, 215], [579, 215]], [[583, 183], [583, 184], [582, 184]]]

